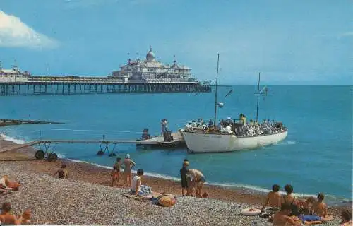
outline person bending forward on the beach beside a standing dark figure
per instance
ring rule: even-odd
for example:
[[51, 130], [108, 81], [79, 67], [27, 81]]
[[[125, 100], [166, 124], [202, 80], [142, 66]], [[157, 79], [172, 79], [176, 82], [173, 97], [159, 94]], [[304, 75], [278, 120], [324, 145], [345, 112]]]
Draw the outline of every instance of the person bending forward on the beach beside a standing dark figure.
[[196, 189], [196, 197], [201, 198], [203, 184], [206, 182], [205, 176], [197, 169], [188, 169], [186, 173], [188, 195], [193, 196], [193, 189]]

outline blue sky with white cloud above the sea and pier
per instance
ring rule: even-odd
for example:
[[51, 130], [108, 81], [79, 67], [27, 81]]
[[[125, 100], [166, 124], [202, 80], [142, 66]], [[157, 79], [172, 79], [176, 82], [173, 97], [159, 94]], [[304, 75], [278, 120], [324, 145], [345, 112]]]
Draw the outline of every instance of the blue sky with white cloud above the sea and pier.
[[[0, 61], [107, 76], [128, 53], [222, 84], [353, 85], [353, 1], [0, 0]], [[175, 57], [174, 57], [175, 56]]]

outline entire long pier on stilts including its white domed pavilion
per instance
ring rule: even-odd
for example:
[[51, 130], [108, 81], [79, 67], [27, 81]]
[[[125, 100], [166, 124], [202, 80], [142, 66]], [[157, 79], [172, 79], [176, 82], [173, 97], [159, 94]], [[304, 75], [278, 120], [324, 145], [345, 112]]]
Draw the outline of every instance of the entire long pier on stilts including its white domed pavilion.
[[73, 95], [86, 93], [209, 93], [210, 81], [191, 77], [191, 69], [177, 61], [165, 65], [152, 48], [144, 61], [128, 64], [110, 76], [32, 76], [28, 71], [2, 69], [0, 95]]

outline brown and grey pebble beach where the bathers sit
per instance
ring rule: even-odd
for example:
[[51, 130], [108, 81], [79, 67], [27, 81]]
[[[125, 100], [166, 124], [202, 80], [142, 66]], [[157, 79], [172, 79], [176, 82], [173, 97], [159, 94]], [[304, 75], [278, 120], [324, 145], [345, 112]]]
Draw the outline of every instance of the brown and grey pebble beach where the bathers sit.
[[[2, 147], [11, 145], [0, 141]], [[175, 206], [166, 208], [126, 198], [128, 188], [109, 185], [109, 169], [82, 162], [67, 162], [69, 179], [52, 174], [62, 160], [32, 160], [31, 150], [22, 150], [28, 160], [11, 160], [21, 151], [0, 153], [1, 175], [21, 182], [20, 190], [0, 196], [1, 203], [11, 202], [13, 212], [32, 209], [32, 225], [272, 225], [258, 216], [241, 215], [241, 209], [261, 207], [263, 194], [241, 189], [206, 186], [209, 198], [181, 196], [179, 182], [144, 177], [143, 184], [154, 192], [177, 195]], [[6, 157], [7, 156], [7, 157]], [[339, 225], [340, 207], [330, 208], [335, 220], [325, 225]]]

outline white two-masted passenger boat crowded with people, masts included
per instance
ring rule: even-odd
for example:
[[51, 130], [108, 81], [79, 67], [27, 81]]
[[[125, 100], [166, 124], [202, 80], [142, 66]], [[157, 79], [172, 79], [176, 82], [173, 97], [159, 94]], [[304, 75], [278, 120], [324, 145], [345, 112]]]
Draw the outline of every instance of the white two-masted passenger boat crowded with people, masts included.
[[[222, 119], [221, 126], [216, 126], [217, 114], [217, 81], [218, 66], [220, 54], [217, 61], [217, 77], [215, 90], [215, 118], [214, 124], [208, 125], [188, 124], [181, 133], [184, 137], [187, 148], [190, 153], [221, 153], [235, 150], [249, 150], [261, 148], [266, 145], [272, 145], [284, 140], [288, 135], [288, 129], [283, 126], [282, 122], [264, 121], [263, 124], [258, 123], [258, 103], [256, 112], [256, 121], [246, 124], [243, 119]], [[262, 91], [262, 90], [261, 90]], [[260, 73], [258, 75], [258, 93], [260, 94]], [[241, 117], [244, 116], [241, 114]]]

